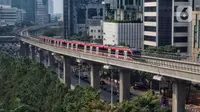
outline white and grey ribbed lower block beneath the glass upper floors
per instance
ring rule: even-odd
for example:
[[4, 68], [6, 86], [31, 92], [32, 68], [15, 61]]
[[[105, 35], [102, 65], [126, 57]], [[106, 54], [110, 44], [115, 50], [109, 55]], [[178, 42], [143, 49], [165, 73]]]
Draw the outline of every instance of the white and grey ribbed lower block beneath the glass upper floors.
[[143, 23], [103, 23], [104, 45], [126, 45], [142, 49]]

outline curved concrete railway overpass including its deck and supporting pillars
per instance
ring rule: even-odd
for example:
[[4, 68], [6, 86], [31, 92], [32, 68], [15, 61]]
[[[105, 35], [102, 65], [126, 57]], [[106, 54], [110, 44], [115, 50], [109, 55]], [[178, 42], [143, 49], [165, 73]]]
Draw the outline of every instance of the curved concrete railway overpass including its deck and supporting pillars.
[[[98, 71], [102, 65], [110, 65], [117, 67], [120, 70], [120, 102], [129, 98], [129, 86], [130, 86], [130, 70], [139, 70], [144, 72], [149, 72], [153, 74], [158, 74], [173, 81], [173, 98], [172, 98], [172, 110], [173, 112], [184, 112], [185, 98], [186, 98], [186, 84], [188, 81], [200, 82], [200, 64], [164, 59], [150, 56], [143, 56], [140, 60], [123, 60], [112, 58], [109, 56], [101, 56], [86, 52], [79, 52], [66, 48], [59, 48], [46, 43], [40, 43], [37, 38], [30, 37], [28, 31], [25, 29], [18, 35], [21, 40], [21, 54], [23, 56], [29, 56], [31, 45], [31, 57], [35, 59], [35, 49], [39, 48], [40, 62], [44, 60], [44, 51], [48, 51], [49, 66], [53, 64], [52, 53], [62, 55], [64, 57], [64, 83], [68, 86], [71, 84], [71, 68], [70, 60], [71, 58], [76, 58], [80, 60], [86, 60], [91, 66], [91, 86], [99, 89], [100, 77]], [[36, 29], [34, 29], [36, 30]]]

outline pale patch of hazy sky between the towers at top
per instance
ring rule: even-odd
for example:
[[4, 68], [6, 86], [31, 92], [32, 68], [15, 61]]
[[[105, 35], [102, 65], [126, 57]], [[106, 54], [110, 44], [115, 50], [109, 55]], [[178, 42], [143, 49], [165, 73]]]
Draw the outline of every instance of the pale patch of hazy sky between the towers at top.
[[63, 13], [63, 0], [54, 1], [54, 13]]

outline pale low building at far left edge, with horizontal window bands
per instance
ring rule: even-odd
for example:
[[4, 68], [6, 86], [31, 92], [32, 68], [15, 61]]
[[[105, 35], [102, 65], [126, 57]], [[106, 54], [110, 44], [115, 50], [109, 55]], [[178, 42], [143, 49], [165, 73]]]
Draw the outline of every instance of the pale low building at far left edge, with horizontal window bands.
[[11, 6], [0, 5], [0, 26], [15, 25], [24, 22], [26, 12]]

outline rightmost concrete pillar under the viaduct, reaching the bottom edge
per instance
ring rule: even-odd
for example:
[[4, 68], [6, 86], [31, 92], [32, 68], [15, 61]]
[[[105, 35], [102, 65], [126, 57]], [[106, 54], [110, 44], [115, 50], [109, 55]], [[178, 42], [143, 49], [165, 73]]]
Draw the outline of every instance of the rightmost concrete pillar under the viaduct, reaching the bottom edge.
[[187, 82], [176, 80], [172, 85], [172, 112], [185, 112]]

